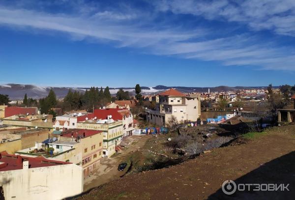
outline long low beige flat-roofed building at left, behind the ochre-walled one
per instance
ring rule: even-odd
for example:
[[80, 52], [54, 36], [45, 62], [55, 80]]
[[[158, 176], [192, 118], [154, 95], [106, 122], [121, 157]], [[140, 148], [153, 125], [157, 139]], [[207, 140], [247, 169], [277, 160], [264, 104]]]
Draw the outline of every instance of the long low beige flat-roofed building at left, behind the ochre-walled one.
[[[9, 108], [9, 107], [8, 107]], [[6, 109], [5, 109], [6, 110]], [[19, 114], [3, 118], [3, 124], [53, 129], [51, 114]]]

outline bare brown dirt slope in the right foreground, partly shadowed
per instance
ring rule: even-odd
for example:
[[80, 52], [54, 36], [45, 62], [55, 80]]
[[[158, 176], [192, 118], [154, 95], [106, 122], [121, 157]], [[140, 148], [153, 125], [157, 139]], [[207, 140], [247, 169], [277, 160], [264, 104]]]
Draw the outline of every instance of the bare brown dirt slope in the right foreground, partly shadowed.
[[[285, 183], [288, 192], [221, 191], [225, 180], [236, 183]], [[125, 175], [88, 194], [82, 200], [195, 200], [294, 199], [295, 125], [275, 127], [241, 145], [211, 152], [161, 170]]]

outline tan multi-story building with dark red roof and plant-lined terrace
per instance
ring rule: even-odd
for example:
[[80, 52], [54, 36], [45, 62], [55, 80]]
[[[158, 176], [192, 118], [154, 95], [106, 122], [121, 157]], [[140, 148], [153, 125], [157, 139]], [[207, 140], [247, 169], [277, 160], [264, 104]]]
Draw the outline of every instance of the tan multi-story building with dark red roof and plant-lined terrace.
[[49, 138], [42, 143], [35, 143], [16, 154], [45, 158], [57, 161], [71, 162], [80, 165], [84, 176], [95, 169], [102, 158], [102, 131], [87, 129], [71, 129]]

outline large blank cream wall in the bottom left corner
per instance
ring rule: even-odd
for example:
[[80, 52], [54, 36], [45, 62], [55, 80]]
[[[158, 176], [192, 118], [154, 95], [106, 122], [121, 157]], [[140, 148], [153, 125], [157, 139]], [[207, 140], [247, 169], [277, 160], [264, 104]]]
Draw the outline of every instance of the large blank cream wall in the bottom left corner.
[[60, 200], [83, 192], [83, 171], [75, 164], [0, 171], [5, 200]]

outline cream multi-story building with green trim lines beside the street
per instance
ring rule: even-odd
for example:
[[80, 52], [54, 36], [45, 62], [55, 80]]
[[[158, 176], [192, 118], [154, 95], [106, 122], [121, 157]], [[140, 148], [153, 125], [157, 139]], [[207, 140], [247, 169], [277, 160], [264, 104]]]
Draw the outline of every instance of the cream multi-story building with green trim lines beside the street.
[[78, 117], [77, 128], [102, 131], [103, 157], [110, 157], [116, 153], [115, 147], [122, 142], [122, 120], [114, 120], [112, 117], [108, 115], [107, 119], [102, 119], [95, 116], [94, 113]]

